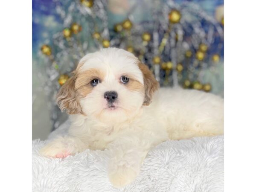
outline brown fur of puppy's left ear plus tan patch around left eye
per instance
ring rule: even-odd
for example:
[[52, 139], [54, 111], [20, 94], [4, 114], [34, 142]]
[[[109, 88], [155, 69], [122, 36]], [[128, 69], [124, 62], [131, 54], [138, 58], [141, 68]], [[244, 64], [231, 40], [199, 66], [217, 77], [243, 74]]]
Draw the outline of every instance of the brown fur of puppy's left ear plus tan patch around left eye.
[[90, 81], [93, 79], [103, 79], [104, 74], [99, 70], [91, 69], [84, 72], [75, 70], [74, 76], [67, 80], [57, 94], [57, 103], [61, 111], [66, 110], [68, 114], [83, 113], [79, 104], [79, 99], [87, 96], [93, 87]]

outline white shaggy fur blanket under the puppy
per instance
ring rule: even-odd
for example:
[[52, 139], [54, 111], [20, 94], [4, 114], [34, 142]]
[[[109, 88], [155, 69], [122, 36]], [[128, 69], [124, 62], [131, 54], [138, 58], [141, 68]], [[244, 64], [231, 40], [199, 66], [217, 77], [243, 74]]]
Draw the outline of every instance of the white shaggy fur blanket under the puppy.
[[[67, 132], [67, 125], [50, 136]], [[122, 189], [107, 175], [108, 150], [86, 150], [65, 159], [41, 157], [49, 140], [32, 142], [33, 192], [223, 192], [224, 137], [166, 141], [145, 158], [140, 175]]]

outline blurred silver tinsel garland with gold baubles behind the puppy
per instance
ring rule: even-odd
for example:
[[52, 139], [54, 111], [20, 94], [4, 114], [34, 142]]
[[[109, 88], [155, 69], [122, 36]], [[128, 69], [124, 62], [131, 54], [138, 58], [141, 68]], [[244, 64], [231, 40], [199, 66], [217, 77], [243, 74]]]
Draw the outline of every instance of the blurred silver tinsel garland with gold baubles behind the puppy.
[[[215, 67], [223, 56], [224, 17], [218, 22], [193, 3], [185, 1], [178, 5], [167, 0], [161, 4], [156, 0], [151, 2], [155, 4], [151, 20], [134, 23], [133, 12], [129, 12], [125, 20], [109, 28], [105, 0], [55, 2], [63, 31], [41, 47], [50, 63], [48, 74], [52, 83], [48, 86], [52, 98], [75, 70], [79, 59], [88, 52], [108, 47], [134, 53], [148, 65], [161, 86], [212, 90], [212, 85], [203, 84], [202, 79], [207, 68], [216, 73]], [[61, 62], [63, 58], [70, 61], [68, 67]], [[55, 115], [53, 121], [57, 119]]]

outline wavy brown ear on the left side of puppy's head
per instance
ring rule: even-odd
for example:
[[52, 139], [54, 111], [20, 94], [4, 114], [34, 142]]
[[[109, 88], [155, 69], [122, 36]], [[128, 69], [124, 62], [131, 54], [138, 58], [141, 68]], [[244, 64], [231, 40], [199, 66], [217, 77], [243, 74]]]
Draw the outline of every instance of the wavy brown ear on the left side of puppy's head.
[[75, 92], [76, 77], [68, 79], [57, 94], [57, 103], [61, 111], [66, 110], [68, 114], [81, 113], [81, 106], [76, 98]]

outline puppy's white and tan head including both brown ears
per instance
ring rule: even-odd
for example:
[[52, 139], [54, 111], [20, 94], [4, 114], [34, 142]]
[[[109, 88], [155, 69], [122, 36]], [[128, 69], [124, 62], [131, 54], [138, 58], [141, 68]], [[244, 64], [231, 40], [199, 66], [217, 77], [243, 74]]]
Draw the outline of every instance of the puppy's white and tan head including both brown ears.
[[101, 122], [123, 122], [149, 105], [158, 82], [145, 64], [123, 49], [108, 48], [84, 56], [61, 87], [57, 102], [69, 114]]

